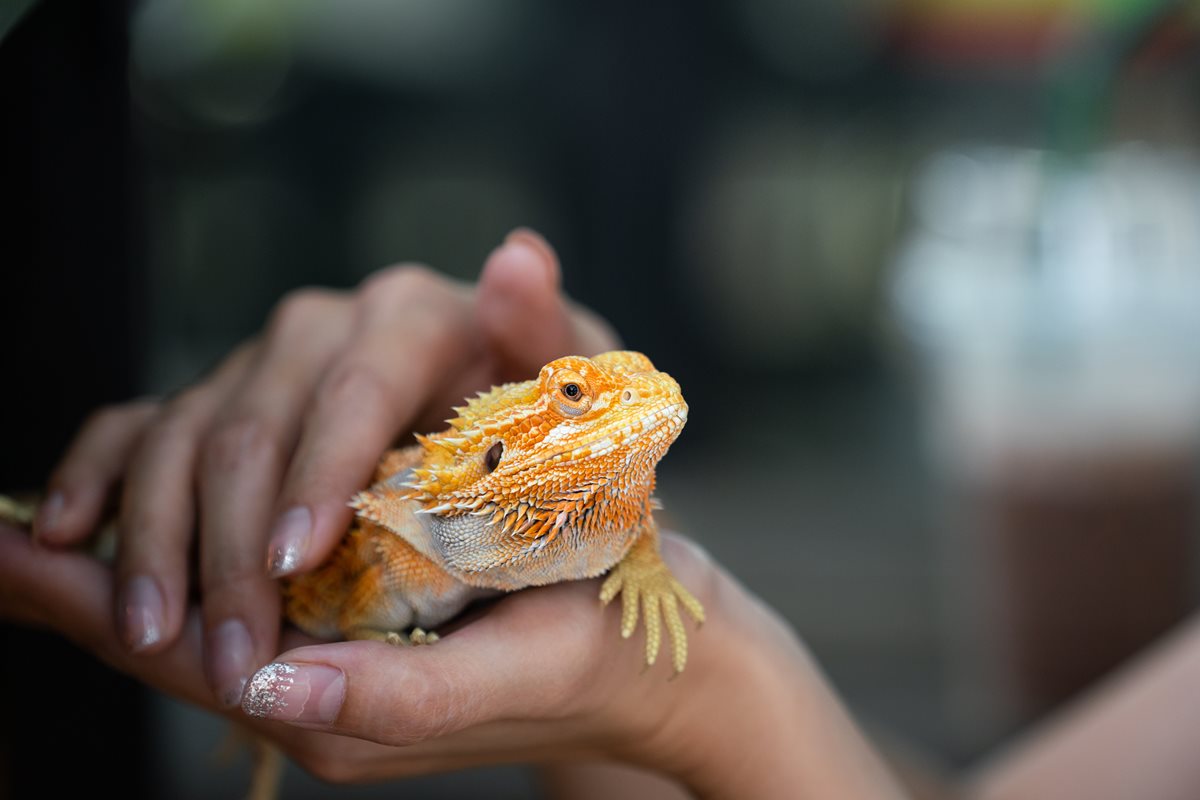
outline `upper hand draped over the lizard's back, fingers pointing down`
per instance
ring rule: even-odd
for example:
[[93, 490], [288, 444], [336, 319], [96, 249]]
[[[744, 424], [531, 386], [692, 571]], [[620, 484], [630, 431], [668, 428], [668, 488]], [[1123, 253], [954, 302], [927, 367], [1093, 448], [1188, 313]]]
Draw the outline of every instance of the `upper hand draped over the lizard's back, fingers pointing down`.
[[488, 257], [476, 287], [408, 265], [349, 293], [301, 290], [174, 399], [94, 416], [53, 474], [35, 535], [80, 541], [124, 486], [113, 607], [139, 654], [166, 651], [184, 628], [197, 536], [203, 663], [233, 706], [277, 652], [274, 578], [325, 558], [350, 523], [347, 498], [397, 434], [439, 428], [464, 395], [553, 357], [613, 347], [562, 296], [553, 251], [526, 230]]

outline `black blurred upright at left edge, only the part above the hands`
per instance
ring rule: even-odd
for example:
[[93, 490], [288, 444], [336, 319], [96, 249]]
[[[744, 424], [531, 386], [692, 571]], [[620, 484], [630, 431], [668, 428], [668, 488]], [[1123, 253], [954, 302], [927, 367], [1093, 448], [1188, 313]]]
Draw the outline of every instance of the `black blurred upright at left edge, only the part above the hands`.
[[[130, 396], [142, 273], [131, 242], [124, 4], [59, 0], [0, 44], [0, 486], [41, 485], [84, 415]], [[19, 457], [14, 457], [19, 455]]]

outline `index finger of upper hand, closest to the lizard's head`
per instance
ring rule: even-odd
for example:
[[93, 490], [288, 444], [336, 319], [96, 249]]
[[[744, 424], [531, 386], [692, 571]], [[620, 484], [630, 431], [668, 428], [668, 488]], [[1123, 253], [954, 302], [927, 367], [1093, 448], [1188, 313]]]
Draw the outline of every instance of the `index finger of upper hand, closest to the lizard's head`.
[[[389, 270], [360, 290], [359, 324], [304, 421], [284, 479], [270, 553], [295, 552], [275, 576], [319, 564], [350, 522], [347, 501], [366, 485], [396, 434], [476, 343], [466, 293], [419, 267]], [[294, 546], [293, 542], [305, 542]]]

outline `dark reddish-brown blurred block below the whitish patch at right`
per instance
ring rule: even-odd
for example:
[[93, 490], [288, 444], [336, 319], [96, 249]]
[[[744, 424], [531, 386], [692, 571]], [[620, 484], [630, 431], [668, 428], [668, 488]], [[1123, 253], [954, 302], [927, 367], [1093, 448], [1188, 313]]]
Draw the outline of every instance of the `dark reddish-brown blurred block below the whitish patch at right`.
[[1166, 451], [1014, 459], [976, 499], [1020, 717], [1054, 709], [1187, 615], [1195, 468]]

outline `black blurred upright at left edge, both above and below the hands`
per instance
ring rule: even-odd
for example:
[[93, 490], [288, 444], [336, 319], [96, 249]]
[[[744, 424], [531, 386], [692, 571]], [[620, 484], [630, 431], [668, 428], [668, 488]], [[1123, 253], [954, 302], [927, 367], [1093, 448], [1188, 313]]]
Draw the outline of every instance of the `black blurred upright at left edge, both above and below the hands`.
[[[54, 0], [0, 42], [0, 487], [42, 483], [92, 408], [134, 391], [122, 2]], [[4, 796], [149, 795], [143, 692], [58, 637], [0, 628]], [[86, 788], [84, 788], [86, 787]]]

